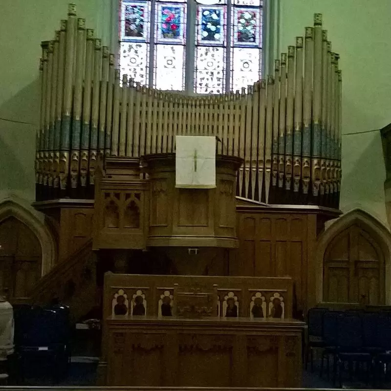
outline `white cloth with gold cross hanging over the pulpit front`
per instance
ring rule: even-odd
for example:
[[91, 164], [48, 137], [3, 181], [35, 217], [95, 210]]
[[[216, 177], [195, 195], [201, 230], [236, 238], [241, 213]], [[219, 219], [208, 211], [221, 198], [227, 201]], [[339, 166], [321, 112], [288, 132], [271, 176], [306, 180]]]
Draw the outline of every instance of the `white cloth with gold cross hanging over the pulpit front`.
[[175, 187], [216, 187], [216, 137], [175, 136]]

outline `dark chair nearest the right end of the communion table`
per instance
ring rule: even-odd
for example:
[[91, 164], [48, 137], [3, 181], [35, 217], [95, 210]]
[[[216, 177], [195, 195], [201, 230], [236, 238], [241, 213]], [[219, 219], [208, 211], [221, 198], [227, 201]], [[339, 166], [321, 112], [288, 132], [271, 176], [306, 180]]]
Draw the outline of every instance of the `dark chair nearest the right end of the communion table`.
[[305, 369], [307, 369], [308, 356], [311, 357], [311, 372], [314, 364], [314, 348], [324, 348], [323, 341], [323, 315], [327, 308], [310, 308], [307, 314], [307, 354], [305, 357]]

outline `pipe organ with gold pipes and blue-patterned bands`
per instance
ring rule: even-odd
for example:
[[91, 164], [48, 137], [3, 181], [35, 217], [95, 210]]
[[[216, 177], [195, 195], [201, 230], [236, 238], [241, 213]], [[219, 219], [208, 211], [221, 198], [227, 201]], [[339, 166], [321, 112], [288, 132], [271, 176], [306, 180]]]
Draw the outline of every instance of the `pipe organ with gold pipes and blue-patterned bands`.
[[[338, 207], [341, 70], [322, 15], [241, 91], [185, 95], [135, 83], [69, 4], [40, 62], [37, 200], [93, 198], [110, 156], [175, 152], [175, 135], [216, 136], [217, 154], [242, 159], [237, 195], [277, 204]], [[145, 175], [144, 175], [145, 178]]]

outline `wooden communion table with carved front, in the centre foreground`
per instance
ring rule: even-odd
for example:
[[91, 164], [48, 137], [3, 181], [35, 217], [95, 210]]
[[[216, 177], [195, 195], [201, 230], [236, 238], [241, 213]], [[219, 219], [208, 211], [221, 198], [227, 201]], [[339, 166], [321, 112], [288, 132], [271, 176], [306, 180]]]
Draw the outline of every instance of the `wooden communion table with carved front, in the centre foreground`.
[[109, 386], [301, 387], [304, 323], [291, 319], [106, 319]]

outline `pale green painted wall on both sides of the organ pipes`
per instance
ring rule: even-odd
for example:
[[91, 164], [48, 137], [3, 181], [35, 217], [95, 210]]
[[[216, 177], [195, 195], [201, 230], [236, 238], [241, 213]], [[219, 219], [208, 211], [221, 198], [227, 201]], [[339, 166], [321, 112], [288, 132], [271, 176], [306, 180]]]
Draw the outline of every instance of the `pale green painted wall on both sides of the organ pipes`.
[[[324, 15], [343, 69], [343, 133], [380, 129], [391, 122], [391, 0], [280, 0], [282, 50]], [[35, 131], [39, 122], [40, 42], [52, 38], [66, 16], [68, 0], [2, 0], [0, 14], [0, 198], [6, 192], [34, 198]], [[78, 0], [104, 44], [112, 44], [112, 4]], [[110, 38], [114, 37], [114, 38]], [[111, 42], [110, 42], [111, 41]], [[21, 121], [24, 123], [19, 123]], [[343, 137], [341, 206], [361, 206], [386, 219], [385, 169], [378, 132]]]

